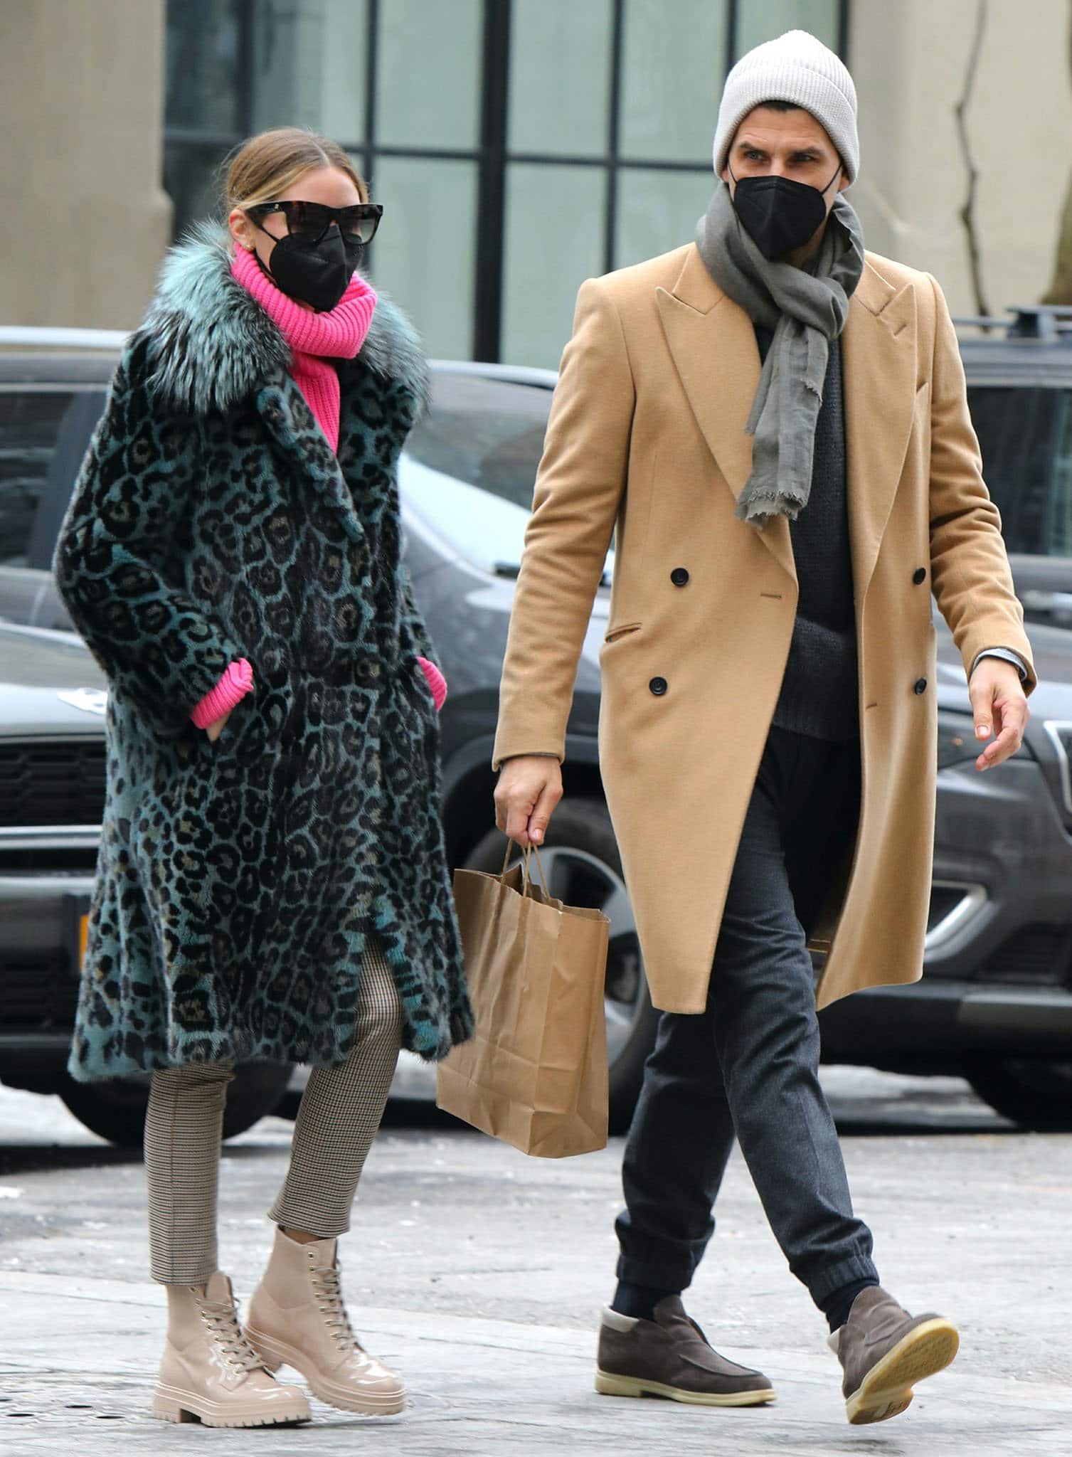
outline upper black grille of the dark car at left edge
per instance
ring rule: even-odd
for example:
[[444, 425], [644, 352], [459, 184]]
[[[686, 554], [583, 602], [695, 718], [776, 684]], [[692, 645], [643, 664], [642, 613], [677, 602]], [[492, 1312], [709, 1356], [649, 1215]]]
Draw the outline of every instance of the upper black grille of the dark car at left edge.
[[0, 825], [99, 825], [103, 739], [0, 743]]

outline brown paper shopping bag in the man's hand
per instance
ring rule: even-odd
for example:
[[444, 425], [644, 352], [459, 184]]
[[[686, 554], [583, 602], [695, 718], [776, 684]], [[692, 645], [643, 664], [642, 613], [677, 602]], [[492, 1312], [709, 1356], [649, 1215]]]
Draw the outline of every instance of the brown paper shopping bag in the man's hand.
[[511, 849], [501, 876], [454, 871], [476, 1034], [438, 1064], [436, 1101], [524, 1154], [587, 1154], [607, 1141], [610, 922], [535, 886], [529, 851], [507, 870]]

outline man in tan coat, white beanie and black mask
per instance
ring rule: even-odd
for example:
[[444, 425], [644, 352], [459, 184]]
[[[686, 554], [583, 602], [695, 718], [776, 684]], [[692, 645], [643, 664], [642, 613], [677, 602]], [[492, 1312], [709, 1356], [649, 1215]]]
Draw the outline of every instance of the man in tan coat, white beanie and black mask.
[[[597, 1390], [773, 1397], [685, 1314], [734, 1134], [830, 1326], [851, 1422], [955, 1327], [878, 1284], [819, 1084], [816, 1008], [922, 973], [937, 772], [931, 593], [986, 771], [1034, 686], [941, 290], [864, 252], [856, 96], [804, 32], [730, 73], [695, 243], [588, 280], [502, 669], [497, 819], [540, 844], [616, 530], [600, 766], [663, 1010], [625, 1157]], [[989, 742], [986, 742], [989, 740]], [[819, 985], [811, 949], [826, 950]]]

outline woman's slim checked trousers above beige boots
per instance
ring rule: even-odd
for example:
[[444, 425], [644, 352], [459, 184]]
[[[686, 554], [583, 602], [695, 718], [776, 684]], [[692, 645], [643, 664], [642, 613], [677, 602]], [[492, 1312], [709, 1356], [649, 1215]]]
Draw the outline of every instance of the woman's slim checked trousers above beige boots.
[[[366, 1157], [383, 1118], [402, 1037], [395, 978], [374, 937], [363, 959], [354, 1046], [316, 1067], [302, 1094], [290, 1167], [267, 1211], [319, 1238], [345, 1234]], [[200, 1285], [217, 1269], [220, 1136], [232, 1059], [159, 1068], [146, 1115], [153, 1279]]]

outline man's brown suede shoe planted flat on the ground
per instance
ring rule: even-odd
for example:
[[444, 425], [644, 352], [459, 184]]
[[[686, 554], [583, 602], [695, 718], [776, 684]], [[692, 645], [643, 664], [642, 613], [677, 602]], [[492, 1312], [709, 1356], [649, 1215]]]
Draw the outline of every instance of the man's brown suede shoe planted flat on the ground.
[[760, 1371], [749, 1371], [708, 1345], [680, 1295], [655, 1305], [654, 1320], [604, 1308], [599, 1329], [596, 1390], [603, 1396], [666, 1396], [695, 1406], [759, 1406], [775, 1393]]

